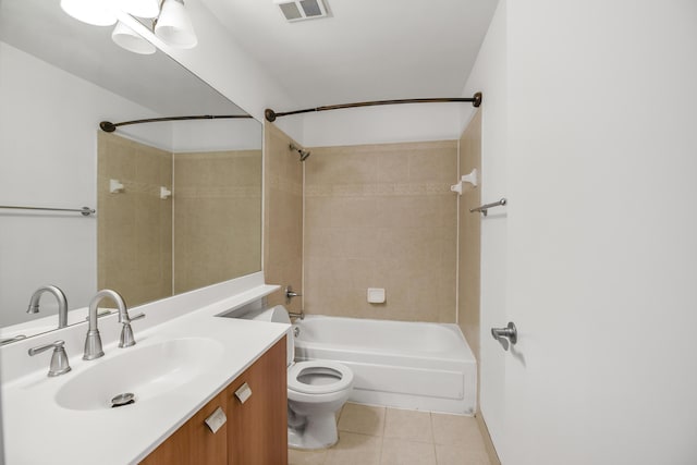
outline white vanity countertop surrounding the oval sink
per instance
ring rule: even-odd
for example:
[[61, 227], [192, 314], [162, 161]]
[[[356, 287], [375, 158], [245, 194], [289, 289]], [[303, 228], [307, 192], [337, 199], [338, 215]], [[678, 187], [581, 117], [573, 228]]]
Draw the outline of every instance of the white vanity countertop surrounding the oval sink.
[[[2, 386], [7, 463], [123, 465], [144, 458], [285, 334], [286, 325], [216, 317], [223, 307], [209, 305], [147, 329], [134, 321], [135, 346], [119, 348], [115, 339], [105, 341], [106, 355], [89, 362], [82, 359], [82, 351], [69, 351], [72, 371], [56, 378], [46, 376], [51, 351], [32, 357], [45, 363], [40, 370]], [[114, 326], [101, 319], [99, 325]], [[94, 364], [181, 338], [211, 339], [221, 347], [191, 381], [120, 408], [75, 411], [56, 402], [60, 388]]]

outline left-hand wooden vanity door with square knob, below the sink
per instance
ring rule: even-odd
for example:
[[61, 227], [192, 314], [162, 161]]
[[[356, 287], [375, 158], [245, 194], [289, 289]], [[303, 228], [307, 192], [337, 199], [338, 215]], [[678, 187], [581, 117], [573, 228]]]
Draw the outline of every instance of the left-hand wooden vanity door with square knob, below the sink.
[[205, 421], [218, 407], [227, 414], [227, 400], [225, 391], [218, 394], [140, 464], [225, 465], [228, 463], [228, 424], [225, 423], [213, 433]]

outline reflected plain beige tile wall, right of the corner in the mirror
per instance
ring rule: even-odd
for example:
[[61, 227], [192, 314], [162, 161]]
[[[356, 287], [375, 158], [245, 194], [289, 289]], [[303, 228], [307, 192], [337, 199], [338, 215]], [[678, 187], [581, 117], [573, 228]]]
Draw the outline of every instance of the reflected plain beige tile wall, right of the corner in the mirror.
[[261, 267], [261, 150], [174, 154], [174, 293]]

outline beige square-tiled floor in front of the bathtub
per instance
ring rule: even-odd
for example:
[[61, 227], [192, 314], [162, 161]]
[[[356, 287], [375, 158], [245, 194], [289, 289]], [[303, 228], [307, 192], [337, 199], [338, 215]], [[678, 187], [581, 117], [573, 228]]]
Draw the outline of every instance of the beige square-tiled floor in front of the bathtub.
[[339, 443], [289, 450], [290, 465], [490, 465], [474, 418], [346, 404]]

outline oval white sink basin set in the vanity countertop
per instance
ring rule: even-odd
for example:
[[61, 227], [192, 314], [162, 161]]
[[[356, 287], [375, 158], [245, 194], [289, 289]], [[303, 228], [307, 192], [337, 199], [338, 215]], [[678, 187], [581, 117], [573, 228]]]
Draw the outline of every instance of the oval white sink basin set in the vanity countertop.
[[75, 374], [61, 387], [56, 394], [58, 405], [75, 411], [111, 408], [111, 400], [126, 392], [135, 395], [136, 404], [147, 402], [191, 381], [222, 354], [219, 342], [204, 338], [115, 350], [121, 353], [87, 362], [94, 366]]

